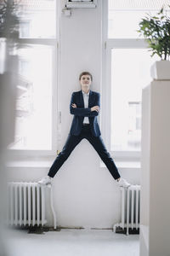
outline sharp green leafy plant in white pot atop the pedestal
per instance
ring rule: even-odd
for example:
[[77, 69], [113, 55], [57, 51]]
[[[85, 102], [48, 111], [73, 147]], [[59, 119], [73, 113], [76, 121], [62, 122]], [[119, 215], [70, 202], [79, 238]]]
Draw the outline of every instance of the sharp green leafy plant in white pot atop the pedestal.
[[[170, 5], [168, 5], [170, 7]], [[158, 55], [161, 60], [150, 67], [153, 79], [170, 79], [170, 17], [167, 16], [165, 7], [154, 16], [148, 16], [139, 22], [140, 36], [143, 35], [153, 55]]]

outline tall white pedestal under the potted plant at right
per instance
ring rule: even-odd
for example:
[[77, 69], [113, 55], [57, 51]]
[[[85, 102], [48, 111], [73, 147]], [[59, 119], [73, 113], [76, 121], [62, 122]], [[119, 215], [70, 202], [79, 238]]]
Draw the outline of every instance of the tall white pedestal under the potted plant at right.
[[140, 256], [170, 255], [170, 80], [143, 89]]

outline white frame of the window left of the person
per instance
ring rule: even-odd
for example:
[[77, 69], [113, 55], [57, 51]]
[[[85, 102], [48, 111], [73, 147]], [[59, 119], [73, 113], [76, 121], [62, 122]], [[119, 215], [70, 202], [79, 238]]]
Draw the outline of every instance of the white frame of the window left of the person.
[[42, 158], [44, 156], [50, 157], [57, 154], [57, 148], [60, 141], [60, 126], [61, 126], [61, 111], [60, 111], [60, 89], [59, 89], [59, 27], [60, 27], [60, 5], [59, 1], [55, 1], [56, 19], [55, 19], [55, 38], [20, 38], [19, 44], [41, 44], [52, 46], [52, 123], [51, 123], [51, 140], [52, 148], [47, 149], [14, 149], [8, 148], [8, 157], [16, 158]]

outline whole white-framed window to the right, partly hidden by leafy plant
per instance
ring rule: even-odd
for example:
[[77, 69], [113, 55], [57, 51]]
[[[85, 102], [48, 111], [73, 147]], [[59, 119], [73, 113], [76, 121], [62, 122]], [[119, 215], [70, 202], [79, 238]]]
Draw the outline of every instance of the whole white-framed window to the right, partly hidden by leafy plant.
[[151, 81], [151, 64], [159, 60], [156, 55], [150, 57], [148, 45], [136, 30], [146, 13], [156, 14], [168, 2], [108, 0], [103, 3], [105, 88], [102, 96], [105, 112], [111, 118], [102, 117], [102, 130], [112, 156], [117, 159], [139, 160], [142, 89]]

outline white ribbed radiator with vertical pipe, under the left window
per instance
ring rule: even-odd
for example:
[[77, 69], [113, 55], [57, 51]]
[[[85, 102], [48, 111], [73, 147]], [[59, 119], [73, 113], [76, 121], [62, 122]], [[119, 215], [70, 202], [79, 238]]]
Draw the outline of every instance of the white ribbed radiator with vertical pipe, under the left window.
[[54, 216], [54, 229], [56, 229], [52, 186], [31, 182], [8, 183], [7, 224], [20, 226], [46, 224], [46, 189], [50, 189], [50, 206]]

